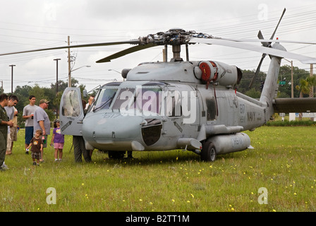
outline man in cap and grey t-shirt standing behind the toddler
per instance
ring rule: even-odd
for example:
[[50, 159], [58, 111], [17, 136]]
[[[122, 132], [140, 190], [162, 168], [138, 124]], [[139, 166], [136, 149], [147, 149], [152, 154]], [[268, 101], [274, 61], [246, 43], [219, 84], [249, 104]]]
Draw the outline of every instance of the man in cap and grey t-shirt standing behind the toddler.
[[[34, 131], [42, 130], [43, 149], [47, 147], [47, 135], [51, 133], [51, 121], [44, 109], [47, 109], [49, 101], [46, 99], [39, 100], [39, 107], [34, 112]], [[43, 162], [43, 150], [39, 162]]]

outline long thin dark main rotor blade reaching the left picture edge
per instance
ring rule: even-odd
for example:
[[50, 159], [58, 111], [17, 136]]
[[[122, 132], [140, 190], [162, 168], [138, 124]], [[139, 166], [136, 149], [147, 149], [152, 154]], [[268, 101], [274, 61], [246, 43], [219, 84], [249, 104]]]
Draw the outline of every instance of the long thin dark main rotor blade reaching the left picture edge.
[[115, 45], [115, 44], [139, 44], [139, 40], [129, 40], [123, 42], [101, 42], [101, 43], [92, 43], [92, 44], [76, 44], [76, 45], [68, 45], [63, 47], [50, 47], [50, 48], [43, 48], [43, 49], [32, 49], [32, 50], [25, 50], [20, 52], [9, 52], [6, 54], [0, 54], [0, 56], [6, 56], [11, 54], [23, 54], [27, 52], [39, 52], [39, 51], [46, 51], [46, 50], [54, 50], [54, 49], [68, 49], [68, 48], [81, 48], [81, 47], [102, 47], [107, 45]]

